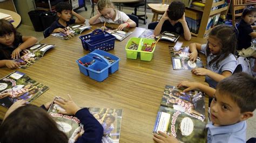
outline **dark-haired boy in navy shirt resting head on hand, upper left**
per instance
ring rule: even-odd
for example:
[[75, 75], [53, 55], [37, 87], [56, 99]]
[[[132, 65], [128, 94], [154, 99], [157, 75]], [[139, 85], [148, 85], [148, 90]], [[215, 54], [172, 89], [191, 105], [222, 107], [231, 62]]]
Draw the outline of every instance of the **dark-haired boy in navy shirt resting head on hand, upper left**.
[[[60, 33], [65, 32], [65, 27], [74, 23], [84, 23], [85, 18], [80, 16], [78, 13], [72, 10], [72, 5], [66, 2], [60, 2], [56, 5], [56, 12], [58, 19], [53, 22], [49, 28], [49, 33]], [[71, 15], [77, 17], [72, 19]]]

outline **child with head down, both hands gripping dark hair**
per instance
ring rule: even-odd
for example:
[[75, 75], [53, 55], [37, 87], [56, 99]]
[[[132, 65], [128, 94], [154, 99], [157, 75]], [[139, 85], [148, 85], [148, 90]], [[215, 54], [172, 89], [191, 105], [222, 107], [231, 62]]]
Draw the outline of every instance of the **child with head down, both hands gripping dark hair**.
[[185, 40], [191, 39], [191, 33], [185, 19], [184, 3], [174, 1], [169, 5], [169, 8], [159, 20], [156, 28], [154, 28], [154, 35], [159, 35], [164, 31], [183, 34]]

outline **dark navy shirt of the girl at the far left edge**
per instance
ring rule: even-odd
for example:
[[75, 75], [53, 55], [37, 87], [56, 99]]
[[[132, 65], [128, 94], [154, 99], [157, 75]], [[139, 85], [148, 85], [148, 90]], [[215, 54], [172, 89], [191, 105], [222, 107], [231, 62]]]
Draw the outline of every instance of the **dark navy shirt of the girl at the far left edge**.
[[11, 60], [12, 52], [14, 52], [14, 50], [22, 43], [22, 35], [18, 34], [17, 39], [15, 39], [14, 42], [14, 47], [6, 47], [5, 45], [0, 44], [0, 60]]

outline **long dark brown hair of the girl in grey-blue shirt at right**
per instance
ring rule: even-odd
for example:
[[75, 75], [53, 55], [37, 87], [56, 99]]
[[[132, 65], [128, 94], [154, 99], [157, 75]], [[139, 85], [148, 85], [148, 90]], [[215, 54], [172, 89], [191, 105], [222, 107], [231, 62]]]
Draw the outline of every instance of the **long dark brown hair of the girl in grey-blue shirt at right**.
[[[216, 26], [212, 29], [209, 37], [218, 39], [220, 41], [220, 52], [215, 54], [209, 65], [216, 62], [218, 66], [219, 62], [224, 60], [229, 54], [234, 54], [235, 49], [237, 49], [237, 38], [235, 37], [234, 28], [232, 26], [227, 26], [225, 24]], [[208, 44], [206, 46], [206, 56], [210, 55], [210, 49]]]

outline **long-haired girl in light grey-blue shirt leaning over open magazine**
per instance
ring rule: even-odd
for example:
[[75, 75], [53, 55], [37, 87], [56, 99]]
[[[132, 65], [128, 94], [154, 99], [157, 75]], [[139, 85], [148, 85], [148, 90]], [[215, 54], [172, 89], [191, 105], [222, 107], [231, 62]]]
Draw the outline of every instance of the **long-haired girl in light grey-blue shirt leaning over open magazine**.
[[237, 59], [233, 55], [236, 46], [236, 37], [231, 26], [214, 27], [209, 34], [207, 45], [190, 44], [190, 60], [196, 61], [197, 50], [204, 52], [207, 57], [206, 69], [194, 68], [191, 70], [192, 73], [206, 75], [205, 81], [210, 87], [215, 88], [219, 81], [231, 76], [237, 66]]

